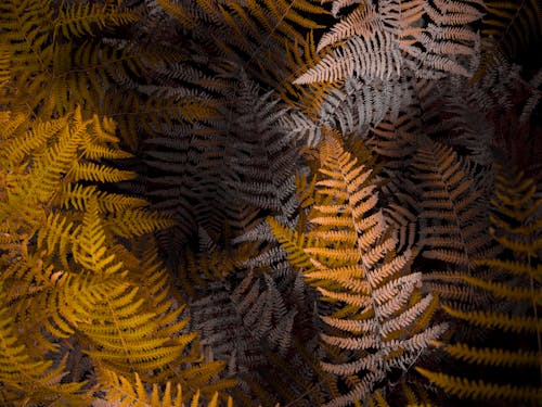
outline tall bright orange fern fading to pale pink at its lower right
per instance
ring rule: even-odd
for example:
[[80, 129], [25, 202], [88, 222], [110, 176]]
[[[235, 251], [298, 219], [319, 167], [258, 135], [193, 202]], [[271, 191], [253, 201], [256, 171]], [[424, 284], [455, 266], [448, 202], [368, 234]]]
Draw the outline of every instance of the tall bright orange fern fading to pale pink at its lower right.
[[395, 253], [397, 240], [377, 209], [371, 169], [358, 166], [331, 137], [320, 151], [323, 179], [317, 182], [311, 229], [299, 233], [269, 222], [322, 300], [337, 304], [321, 315], [327, 326], [321, 338], [343, 356], [322, 367], [352, 383], [327, 404], [344, 406], [386, 384], [391, 370], [408, 371], [446, 325], [429, 325], [436, 298], [420, 294], [421, 275], [409, 271], [410, 251]]

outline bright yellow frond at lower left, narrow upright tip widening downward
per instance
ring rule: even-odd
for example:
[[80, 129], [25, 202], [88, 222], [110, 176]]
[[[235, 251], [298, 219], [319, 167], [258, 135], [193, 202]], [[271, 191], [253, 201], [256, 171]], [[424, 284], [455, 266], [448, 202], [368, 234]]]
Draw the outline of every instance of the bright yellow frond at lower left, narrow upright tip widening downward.
[[155, 283], [160, 281], [155, 288], [140, 285], [138, 270], [130, 281], [129, 271], [106, 245], [96, 202], [91, 201], [85, 214], [74, 260], [90, 272], [91, 280], [101, 281], [100, 288], [87, 289], [93, 301], [80, 304], [83, 321], [77, 323], [88, 339], [87, 353], [96, 364], [119, 374], [139, 372], [142, 377], [157, 369], [157, 377], [169, 364], [180, 360], [196, 334], [179, 333], [186, 321], [178, 320], [182, 309], [176, 309], [167, 298], [169, 289], [164, 271], [146, 264], [149, 270], [140, 276]]

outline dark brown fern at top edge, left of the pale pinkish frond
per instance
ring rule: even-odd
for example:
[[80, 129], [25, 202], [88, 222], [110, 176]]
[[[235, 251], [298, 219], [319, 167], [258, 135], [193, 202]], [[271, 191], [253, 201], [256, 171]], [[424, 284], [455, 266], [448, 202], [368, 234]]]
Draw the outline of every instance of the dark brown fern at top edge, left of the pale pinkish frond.
[[196, 4], [169, 0], [162, 4], [199, 40], [211, 43], [217, 54], [238, 63], [251, 78], [273, 88], [281, 87], [288, 72], [286, 44], [295, 44], [302, 52], [305, 33], [323, 28], [317, 21], [328, 14], [315, 0], [199, 0]]

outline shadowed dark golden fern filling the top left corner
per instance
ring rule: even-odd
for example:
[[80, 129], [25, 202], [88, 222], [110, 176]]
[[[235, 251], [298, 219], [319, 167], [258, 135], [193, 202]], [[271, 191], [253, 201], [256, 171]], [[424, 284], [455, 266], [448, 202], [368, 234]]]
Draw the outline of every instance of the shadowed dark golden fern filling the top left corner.
[[99, 111], [107, 104], [104, 98], [112, 79], [125, 80], [129, 73], [141, 72], [145, 63], [152, 65], [153, 59], [143, 61], [134, 47], [120, 50], [102, 41], [81, 41], [137, 20], [136, 13], [113, 2], [2, 2], [2, 43], [13, 55], [12, 80], [2, 97], [14, 110], [46, 119], [78, 104]]

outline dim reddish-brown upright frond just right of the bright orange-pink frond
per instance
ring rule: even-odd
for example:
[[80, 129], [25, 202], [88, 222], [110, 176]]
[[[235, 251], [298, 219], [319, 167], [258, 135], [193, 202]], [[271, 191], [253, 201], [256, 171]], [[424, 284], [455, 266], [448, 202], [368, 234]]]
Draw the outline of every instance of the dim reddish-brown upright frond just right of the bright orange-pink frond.
[[[467, 163], [449, 147], [423, 138], [417, 143], [414, 175], [421, 191], [422, 255], [465, 275], [476, 274], [475, 259], [495, 253], [488, 228], [482, 190]], [[443, 269], [424, 276], [428, 290], [448, 301], [473, 302], [472, 290], [456, 272]]]

